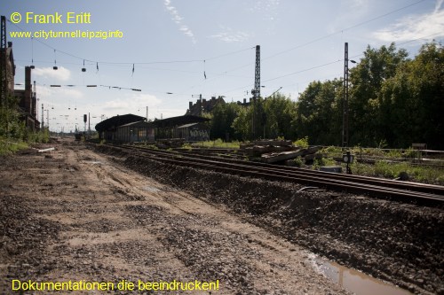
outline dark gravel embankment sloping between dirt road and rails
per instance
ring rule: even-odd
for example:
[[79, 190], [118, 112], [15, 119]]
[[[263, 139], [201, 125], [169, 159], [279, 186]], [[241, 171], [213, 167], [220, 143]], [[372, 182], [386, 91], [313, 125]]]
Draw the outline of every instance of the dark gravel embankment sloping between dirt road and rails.
[[[176, 167], [124, 156], [127, 167], [409, 291], [444, 294], [444, 210], [329, 190]], [[116, 159], [120, 161], [121, 159]]]

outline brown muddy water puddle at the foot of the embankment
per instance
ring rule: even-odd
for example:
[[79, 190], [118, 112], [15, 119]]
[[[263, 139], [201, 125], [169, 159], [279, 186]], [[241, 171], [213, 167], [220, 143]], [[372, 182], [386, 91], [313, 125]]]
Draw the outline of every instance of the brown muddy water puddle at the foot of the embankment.
[[346, 290], [353, 291], [356, 295], [413, 295], [413, 293], [392, 283], [386, 283], [352, 268], [345, 268], [336, 262], [318, 256], [310, 257], [309, 260], [313, 262], [314, 268]]

